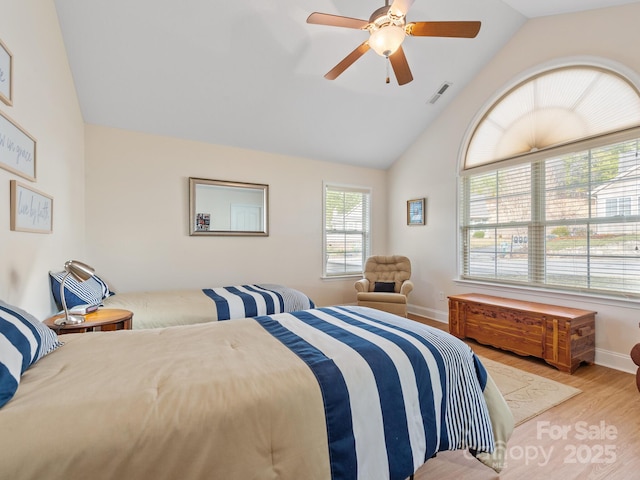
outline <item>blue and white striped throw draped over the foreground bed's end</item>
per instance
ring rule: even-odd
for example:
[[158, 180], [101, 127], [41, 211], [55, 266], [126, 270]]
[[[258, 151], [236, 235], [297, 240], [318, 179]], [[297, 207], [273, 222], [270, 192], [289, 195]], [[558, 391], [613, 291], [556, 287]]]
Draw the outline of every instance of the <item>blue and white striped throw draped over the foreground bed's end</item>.
[[447, 333], [362, 307], [255, 320], [317, 378], [332, 479], [405, 479], [439, 451], [494, 450], [486, 371]]

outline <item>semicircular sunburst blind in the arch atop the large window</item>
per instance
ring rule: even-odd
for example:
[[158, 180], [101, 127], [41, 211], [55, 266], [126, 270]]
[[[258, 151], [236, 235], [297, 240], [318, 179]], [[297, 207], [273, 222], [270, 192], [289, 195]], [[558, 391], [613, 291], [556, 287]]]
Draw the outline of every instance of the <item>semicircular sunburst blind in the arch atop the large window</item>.
[[502, 95], [470, 139], [464, 169], [540, 152], [640, 124], [640, 92], [622, 75], [568, 66], [528, 78]]

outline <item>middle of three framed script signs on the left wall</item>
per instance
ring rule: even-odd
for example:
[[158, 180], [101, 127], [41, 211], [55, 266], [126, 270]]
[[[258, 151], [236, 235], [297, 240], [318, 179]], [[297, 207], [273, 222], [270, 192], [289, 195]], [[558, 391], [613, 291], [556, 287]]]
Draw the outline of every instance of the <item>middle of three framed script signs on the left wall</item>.
[[36, 139], [0, 112], [0, 167], [35, 182]]

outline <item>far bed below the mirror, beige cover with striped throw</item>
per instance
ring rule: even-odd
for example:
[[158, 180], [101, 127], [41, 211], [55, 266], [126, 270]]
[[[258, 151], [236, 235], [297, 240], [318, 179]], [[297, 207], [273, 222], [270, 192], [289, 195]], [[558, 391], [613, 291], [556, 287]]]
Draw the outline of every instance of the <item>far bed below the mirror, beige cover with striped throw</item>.
[[134, 329], [256, 317], [315, 306], [301, 291], [276, 284], [118, 293], [102, 299], [102, 304], [132, 311]]

